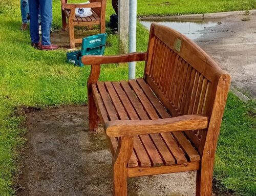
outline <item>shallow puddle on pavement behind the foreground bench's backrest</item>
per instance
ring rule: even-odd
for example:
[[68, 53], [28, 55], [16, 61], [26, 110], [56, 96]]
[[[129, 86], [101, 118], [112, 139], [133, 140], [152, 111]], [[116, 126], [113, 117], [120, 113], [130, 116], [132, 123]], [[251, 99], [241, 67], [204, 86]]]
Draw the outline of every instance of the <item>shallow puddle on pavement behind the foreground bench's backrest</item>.
[[[153, 21], [140, 21], [140, 23], [147, 29], [150, 29]], [[217, 21], [159, 21], [158, 24], [173, 28], [182, 34], [186, 35], [190, 39], [197, 39], [210, 27], [217, 26]]]

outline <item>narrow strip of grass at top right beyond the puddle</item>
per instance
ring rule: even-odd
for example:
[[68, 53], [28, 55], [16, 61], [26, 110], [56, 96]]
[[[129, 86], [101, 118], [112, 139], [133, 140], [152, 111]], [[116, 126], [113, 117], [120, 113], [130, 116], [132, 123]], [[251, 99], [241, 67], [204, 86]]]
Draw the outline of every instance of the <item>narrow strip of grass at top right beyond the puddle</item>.
[[[145, 9], [146, 8], [146, 9]], [[139, 0], [138, 15], [184, 15], [249, 10], [256, 8], [255, 0]]]

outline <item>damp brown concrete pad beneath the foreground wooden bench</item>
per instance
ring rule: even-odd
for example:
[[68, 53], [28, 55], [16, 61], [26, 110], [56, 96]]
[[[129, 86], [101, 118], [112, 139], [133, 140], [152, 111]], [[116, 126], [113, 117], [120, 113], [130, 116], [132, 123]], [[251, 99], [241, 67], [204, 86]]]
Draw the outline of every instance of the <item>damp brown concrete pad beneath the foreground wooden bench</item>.
[[[111, 196], [112, 155], [102, 128], [88, 131], [88, 107], [27, 114], [28, 129], [18, 196]], [[194, 196], [195, 172], [128, 180], [130, 196]]]

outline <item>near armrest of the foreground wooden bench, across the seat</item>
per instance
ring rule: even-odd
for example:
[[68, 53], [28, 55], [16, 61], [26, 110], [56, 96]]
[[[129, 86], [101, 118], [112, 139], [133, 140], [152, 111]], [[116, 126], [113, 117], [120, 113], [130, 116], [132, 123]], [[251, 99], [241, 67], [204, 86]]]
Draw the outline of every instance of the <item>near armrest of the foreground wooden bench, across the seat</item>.
[[157, 120], [114, 120], [106, 122], [106, 135], [109, 137], [134, 136], [208, 127], [205, 115], [184, 115]]

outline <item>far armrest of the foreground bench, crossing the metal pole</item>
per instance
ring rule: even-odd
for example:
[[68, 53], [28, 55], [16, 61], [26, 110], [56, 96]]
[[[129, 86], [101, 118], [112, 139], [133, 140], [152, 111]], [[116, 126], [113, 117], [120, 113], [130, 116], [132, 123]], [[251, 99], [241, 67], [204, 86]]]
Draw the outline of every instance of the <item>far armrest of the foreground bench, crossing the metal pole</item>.
[[84, 65], [91, 65], [91, 64], [144, 61], [146, 59], [147, 59], [146, 52], [134, 52], [129, 54], [119, 54], [119, 55], [113, 55], [113, 56], [84, 55], [82, 57], [82, 63]]

